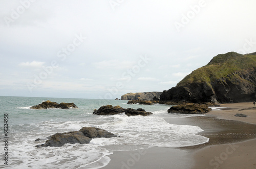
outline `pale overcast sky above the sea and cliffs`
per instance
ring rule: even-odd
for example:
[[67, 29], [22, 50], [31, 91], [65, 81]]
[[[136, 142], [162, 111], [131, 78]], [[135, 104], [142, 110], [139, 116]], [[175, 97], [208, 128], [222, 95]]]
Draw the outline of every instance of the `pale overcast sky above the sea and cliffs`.
[[255, 0], [0, 0], [0, 95], [115, 99], [256, 51]]

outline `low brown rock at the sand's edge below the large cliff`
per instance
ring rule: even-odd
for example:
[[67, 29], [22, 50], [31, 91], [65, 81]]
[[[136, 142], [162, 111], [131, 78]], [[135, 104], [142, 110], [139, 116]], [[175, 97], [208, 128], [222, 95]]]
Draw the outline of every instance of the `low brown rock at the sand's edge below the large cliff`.
[[178, 114], [203, 114], [209, 112], [210, 110], [211, 108], [209, 108], [206, 104], [185, 103], [172, 106], [167, 111], [169, 113]]

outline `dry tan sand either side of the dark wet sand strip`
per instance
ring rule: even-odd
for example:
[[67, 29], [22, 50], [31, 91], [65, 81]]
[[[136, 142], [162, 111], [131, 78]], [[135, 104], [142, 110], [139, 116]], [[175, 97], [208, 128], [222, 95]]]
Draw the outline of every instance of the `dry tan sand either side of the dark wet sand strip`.
[[[253, 107], [251, 102], [221, 104], [221, 106], [230, 109], [210, 111], [207, 115], [214, 115], [219, 119], [256, 124], [256, 109], [241, 110]], [[237, 113], [245, 114], [247, 117], [234, 116]], [[195, 165], [193, 168], [256, 168], [255, 150], [255, 138], [239, 143], [206, 146], [194, 153]]]

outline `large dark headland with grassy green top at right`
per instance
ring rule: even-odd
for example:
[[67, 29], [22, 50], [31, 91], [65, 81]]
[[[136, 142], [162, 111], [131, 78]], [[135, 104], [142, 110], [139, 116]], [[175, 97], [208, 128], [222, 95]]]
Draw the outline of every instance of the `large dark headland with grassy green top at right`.
[[256, 52], [218, 54], [176, 87], [163, 91], [161, 101], [235, 103], [256, 100]]

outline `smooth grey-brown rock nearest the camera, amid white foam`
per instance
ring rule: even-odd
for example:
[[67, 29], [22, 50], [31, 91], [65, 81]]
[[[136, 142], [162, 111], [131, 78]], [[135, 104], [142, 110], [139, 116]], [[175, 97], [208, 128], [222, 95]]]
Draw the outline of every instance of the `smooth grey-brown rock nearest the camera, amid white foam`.
[[106, 130], [95, 128], [95, 127], [83, 127], [79, 131], [71, 131], [67, 133], [56, 133], [51, 136], [50, 139], [46, 140], [45, 144], [36, 147], [61, 147], [66, 143], [79, 143], [88, 144], [92, 138], [110, 138], [116, 137], [115, 134], [110, 133]]

